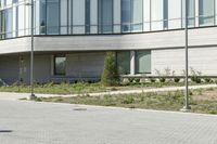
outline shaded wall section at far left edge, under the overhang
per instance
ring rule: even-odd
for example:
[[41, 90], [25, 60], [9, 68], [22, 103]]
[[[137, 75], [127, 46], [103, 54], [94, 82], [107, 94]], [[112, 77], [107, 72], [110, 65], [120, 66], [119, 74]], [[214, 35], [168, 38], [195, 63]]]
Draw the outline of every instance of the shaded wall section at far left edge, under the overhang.
[[18, 81], [18, 56], [0, 56], [0, 78], [7, 83]]

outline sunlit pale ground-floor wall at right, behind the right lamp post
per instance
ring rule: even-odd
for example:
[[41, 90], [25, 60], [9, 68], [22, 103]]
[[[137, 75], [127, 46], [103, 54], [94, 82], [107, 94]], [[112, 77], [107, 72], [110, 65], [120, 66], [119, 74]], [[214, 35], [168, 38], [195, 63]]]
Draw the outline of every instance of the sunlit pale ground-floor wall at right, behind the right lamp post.
[[[189, 67], [201, 71], [203, 75], [217, 76], [217, 47], [193, 48], [189, 50]], [[156, 69], [164, 71], [165, 68], [175, 70], [177, 75], [183, 74], [184, 69], [183, 49], [153, 50], [152, 74]]]

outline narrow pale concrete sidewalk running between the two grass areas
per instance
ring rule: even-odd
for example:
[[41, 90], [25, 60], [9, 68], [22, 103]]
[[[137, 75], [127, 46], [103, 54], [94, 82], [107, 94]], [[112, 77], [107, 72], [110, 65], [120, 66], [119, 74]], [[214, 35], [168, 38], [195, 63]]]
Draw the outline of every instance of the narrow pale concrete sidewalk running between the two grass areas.
[[[208, 88], [217, 88], [217, 84], [205, 84], [205, 86], [191, 86], [189, 87], [191, 90], [195, 89], [208, 89]], [[146, 92], [164, 92], [164, 91], [177, 91], [184, 90], [184, 87], [167, 87], [167, 88], [154, 88], [154, 89], [138, 89], [138, 90], [125, 90], [125, 91], [111, 91], [111, 92], [101, 92], [101, 93], [86, 93], [90, 96], [100, 96], [100, 95], [118, 95], [118, 94], [131, 94], [131, 93], [146, 93]], [[84, 93], [85, 94], [85, 93]], [[69, 95], [61, 95], [61, 94], [36, 94], [38, 97], [73, 97], [78, 96], [80, 94], [69, 94]], [[29, 93], [11, 93], [11, 92], [0, 92], [0, 100], [18, 100], [18, 99], [28, 99]]]

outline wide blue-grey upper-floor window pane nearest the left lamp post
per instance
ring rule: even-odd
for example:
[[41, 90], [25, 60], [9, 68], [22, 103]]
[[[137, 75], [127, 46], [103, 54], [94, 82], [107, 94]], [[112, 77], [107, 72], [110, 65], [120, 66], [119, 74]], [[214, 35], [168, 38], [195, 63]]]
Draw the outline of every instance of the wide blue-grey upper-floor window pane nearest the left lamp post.
[[47, 34], [56, 35], [60, 31], [60, 1], [47, 0]]

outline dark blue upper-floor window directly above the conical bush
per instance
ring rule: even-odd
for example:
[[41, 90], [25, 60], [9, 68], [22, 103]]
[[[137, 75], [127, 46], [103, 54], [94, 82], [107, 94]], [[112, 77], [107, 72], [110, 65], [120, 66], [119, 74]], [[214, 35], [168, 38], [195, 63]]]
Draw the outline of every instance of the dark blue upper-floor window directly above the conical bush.
[[113, 32], [113, 0], [99, 0], [99, 32]]

